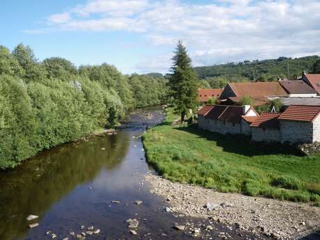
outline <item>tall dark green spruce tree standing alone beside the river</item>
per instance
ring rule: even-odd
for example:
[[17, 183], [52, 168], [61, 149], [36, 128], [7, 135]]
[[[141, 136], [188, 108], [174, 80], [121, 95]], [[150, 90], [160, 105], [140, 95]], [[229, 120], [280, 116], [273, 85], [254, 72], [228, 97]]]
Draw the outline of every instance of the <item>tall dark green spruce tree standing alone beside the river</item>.
[[175, 112], [181, 115], [184, 122], [186, 114], [195, 110], [197, 101], [197, 81], [186, 47], [179, 41], [174, 51], [173, 66], [170, 68], [169, 88]]

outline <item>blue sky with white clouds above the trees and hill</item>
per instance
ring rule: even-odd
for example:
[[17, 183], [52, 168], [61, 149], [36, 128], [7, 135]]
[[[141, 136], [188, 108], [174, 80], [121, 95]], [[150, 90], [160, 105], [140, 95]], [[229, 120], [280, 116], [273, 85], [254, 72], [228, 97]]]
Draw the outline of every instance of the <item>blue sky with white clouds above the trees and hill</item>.
[[167, 72], [178, 40], [193, 65], [320, 55], [319, 0], [10, 0], [0, 45], [30, 45], [42, 60]]

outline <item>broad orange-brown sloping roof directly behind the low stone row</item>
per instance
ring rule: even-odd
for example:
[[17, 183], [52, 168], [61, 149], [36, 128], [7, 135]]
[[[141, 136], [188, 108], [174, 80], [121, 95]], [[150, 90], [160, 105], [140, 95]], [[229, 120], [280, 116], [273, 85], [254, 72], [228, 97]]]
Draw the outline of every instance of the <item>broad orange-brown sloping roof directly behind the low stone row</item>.
[[275, 96], [283, 97], [288, 95], [276, 81], [257, 83], [229, 83], [229, 85], [237, 97], [248, 95], [250, 97], [266, 98]]

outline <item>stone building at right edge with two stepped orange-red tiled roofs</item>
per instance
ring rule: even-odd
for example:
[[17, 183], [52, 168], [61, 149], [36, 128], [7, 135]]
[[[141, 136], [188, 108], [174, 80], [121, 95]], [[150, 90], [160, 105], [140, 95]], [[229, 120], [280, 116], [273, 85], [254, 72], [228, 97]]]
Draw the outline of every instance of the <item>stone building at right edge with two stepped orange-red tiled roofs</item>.
[[283, 113], [262, 113], [251, 125], [253, 141], [320, 141], [320, 106], [291, 105]]

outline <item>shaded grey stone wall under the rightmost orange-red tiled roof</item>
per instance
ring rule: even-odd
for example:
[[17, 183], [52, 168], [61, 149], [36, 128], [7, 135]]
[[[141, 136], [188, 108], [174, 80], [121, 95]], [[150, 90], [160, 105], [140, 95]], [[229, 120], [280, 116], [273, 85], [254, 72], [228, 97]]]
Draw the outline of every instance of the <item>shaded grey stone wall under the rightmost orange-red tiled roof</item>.
[[312, 143], [312, 122], [280, 121], [281, 143]]

